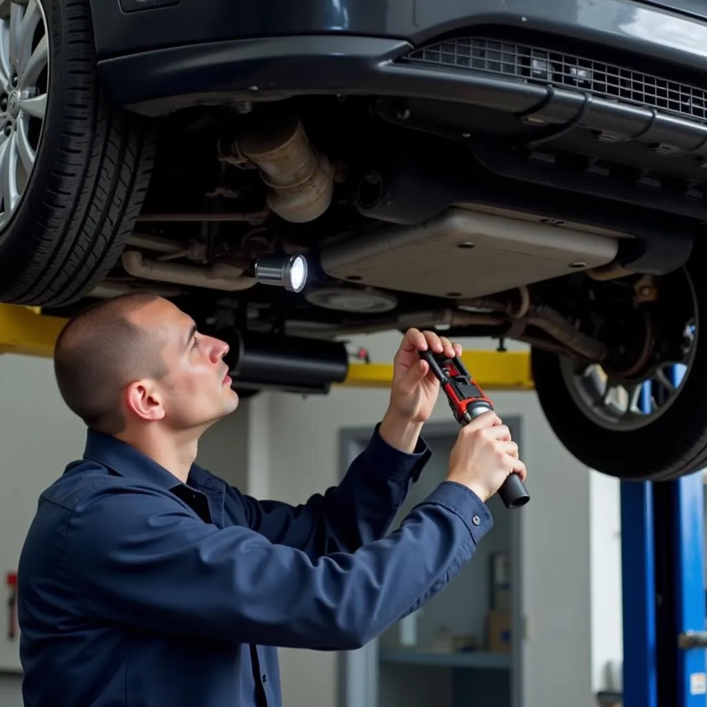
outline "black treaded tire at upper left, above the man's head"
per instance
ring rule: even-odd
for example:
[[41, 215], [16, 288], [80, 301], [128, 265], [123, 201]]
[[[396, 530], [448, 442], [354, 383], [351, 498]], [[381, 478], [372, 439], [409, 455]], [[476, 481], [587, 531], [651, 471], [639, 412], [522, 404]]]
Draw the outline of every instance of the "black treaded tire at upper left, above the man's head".
[[[38, 97], [44, 81], [46, 99], [38, 130], [40, 106], [20, 97], [17, 107], [13, 77], [4, 76], [8, 47], [0, 42], [0, 100], [5, 95], [8, 101], [5, 126], [0, 124], [3, 214], [4, 194], [11, 191], [5, 188], [8, 165], [25, 165], [28, 153], [21, 146], [35, 147], [33, 167], [25, 169], [29, 179], [0, 228], [0, 300], [59, 306], [88, 293], [117, 262], [148, 188], [155, 137], [146, 119], [113, 107], [100, 90], [89, 1], [23, 2], [0, 0], [0, 12], [8, 24], [7, 8], [26, 8], [25, 19], [38, 14], [33, 54], [41, 59], [46, 48], [48, 66], [38, 73], [37, 62], [30, 66], [26, 54], [16, 52], [10, 69], [20, 88], [36, 90]], [[19, 187], [22, 175], [15, 175]]]

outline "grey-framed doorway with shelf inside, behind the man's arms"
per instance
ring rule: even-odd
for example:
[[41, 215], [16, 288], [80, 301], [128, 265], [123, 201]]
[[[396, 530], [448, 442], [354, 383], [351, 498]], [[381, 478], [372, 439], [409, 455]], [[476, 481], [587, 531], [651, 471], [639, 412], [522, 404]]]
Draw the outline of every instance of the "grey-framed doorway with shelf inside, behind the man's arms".
[[[522, 456], [520, 418], [503, 421]], [[433, 456], [391, 530], [444, 481], [459, 429], [426, 424]], [[341, 431], [341, 477], [372, 431]], [[339, 653], [339, 707], [522, 707], [521, 518], [497, 496], [488, 506], [493, 528], [442, 592], [363, 648]]]

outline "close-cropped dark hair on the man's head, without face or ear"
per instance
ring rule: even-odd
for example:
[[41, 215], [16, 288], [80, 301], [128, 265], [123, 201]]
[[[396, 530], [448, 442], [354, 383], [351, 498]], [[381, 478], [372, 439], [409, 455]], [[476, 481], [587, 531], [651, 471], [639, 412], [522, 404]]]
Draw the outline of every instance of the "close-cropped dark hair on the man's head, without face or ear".
[[54, 372], [66, 405], [88, 427], [106, 434], [124, 430], [121, 397], [140, 378], [168, 373], [158, 332], [131, 321], [156, 300], [123, 295], [91, 305], [67, 322], [54, 349]]

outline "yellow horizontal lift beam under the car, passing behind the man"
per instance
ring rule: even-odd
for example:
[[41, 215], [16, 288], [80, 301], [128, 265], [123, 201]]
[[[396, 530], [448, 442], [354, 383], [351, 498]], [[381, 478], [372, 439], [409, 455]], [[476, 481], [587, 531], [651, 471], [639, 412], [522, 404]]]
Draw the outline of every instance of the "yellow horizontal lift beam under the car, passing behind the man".
[[[50, 358], [65, 322], [38, 308], [0, 304], [0, 354]], [[484, 390], [533, 390], [525, 351], [465, 351], [462, 361]], [[351, 363], [341, 386], [387, 388], [392, 370], [390, 363]]]

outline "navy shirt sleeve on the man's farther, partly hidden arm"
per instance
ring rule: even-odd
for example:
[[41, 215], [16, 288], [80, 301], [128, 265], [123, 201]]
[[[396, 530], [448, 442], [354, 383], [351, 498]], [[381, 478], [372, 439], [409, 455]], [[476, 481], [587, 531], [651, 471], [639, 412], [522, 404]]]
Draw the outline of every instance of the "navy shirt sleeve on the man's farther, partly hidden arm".
[[230, 489], [230, 496], [243, 503], [249, 527], [270, 542], [296, 547], [312, 560], [332, 552], [354, 552], [387, 533], [431, 457], [422, 438], [408, 454], [385, 442], [379, 428], [380, 423], [341, 483], [311, 496], [307, 503], [257, 501], [236, 489]]

